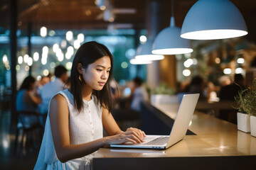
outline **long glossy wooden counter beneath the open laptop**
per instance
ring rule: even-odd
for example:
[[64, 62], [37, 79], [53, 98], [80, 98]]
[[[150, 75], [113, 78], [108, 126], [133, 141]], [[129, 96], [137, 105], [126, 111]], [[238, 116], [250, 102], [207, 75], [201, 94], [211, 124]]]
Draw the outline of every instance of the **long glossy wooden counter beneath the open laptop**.
[[[178, 104], [155, 104], [158, 114], [175, 119]], [[256, 169], [256, 137], [237, 126], [195, 111], [186, 135], [166, 150], [101, 148], [97, 169]]]

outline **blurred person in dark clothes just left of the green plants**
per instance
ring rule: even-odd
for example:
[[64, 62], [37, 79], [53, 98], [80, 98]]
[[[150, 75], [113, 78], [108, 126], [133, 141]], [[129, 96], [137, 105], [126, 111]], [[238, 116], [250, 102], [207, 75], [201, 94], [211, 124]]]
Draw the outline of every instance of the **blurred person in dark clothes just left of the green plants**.
[[220, 88], [220, 101], [235, 101], [238, 91], [245, 88], [245, 79], [242, 74], [235, 74], [233, 84]]

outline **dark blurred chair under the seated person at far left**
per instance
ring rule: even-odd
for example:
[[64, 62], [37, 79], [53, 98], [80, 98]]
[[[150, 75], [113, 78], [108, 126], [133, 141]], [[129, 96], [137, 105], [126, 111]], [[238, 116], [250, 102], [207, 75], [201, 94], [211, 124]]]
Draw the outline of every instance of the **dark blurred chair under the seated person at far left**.
[[16, 137], [15, 137], [15, 145], [14, 151], [17, 156], [18, 154], [18, 137], [20, 131], [22, 130], [22, 137], [20, 143], [20, 151], [22, 152], [23, 144], [24, 144], [24, 136], [26, 135], [26, 140], [28, 140], [28, 134], [34, 132], [35, 130], [40, 130], [40, 140], [43, 137], [43, 126], [40, 123], [40, 117], [42, 115], [31, 112], [31, 111], [17, 111], [18, 115], [18, 123], [16, 125]]

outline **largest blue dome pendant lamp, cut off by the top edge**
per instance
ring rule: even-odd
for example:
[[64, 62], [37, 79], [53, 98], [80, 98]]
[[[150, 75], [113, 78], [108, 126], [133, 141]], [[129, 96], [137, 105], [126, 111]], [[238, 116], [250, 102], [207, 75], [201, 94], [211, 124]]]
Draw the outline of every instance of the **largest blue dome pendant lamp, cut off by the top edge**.
[[242, 14], [228, 0], [198, 0], [188, 11], [181, 38], [218, 40], [247, 35]]

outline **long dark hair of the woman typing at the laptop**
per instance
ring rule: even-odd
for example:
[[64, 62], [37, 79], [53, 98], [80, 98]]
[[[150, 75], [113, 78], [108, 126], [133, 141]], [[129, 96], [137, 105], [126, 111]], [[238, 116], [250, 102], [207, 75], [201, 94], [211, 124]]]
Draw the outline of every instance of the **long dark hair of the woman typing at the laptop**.
[[107, 108], [108, 111], [112, 111], [113, 98], [110, 90], [110, 81], [113, 73], [113, 55], [105, 45], [95, 41], [85, 42], [83, 45], [81, 45], [73, 60], [70, 74], [70, 91], [74, 96], [75, 106], [78, 108], [78, 111], [83, 109], [83, 101], [82, 82], [79, 79], [80, 74], [78, 72], [77, 65], [80, 63], [82, 64], [83, 68], [87, 69], [89, 64], [92, 64], [96, 60], [105, 56], [109, 56], [111, 61], [109, 78], [101, 91], [92, 90], [92, 94], [96, 96], [97, 102], [100, 103], [101, 107]]

